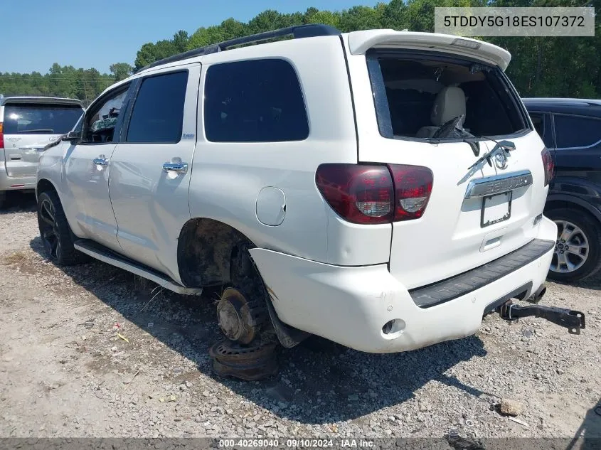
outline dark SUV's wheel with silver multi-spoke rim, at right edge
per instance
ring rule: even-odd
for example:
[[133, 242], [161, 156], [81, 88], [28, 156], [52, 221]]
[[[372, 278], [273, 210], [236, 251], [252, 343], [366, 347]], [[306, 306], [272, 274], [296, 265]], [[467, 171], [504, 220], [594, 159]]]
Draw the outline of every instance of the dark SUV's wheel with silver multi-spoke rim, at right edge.
[[574, 282], [601, 268], [601, 226], [583, 210], [558, 208], [545, 215], [557, 225], [555, 253], [548, 278]]

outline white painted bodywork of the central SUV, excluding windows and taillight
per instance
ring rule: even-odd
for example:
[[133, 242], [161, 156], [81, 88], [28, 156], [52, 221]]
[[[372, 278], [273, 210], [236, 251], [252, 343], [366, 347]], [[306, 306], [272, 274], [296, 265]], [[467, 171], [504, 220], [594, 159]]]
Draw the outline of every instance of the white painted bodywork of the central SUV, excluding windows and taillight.
[[[506, 255], [534, 238], [555, 240], [556, 227], [543, 210], [543, 143], [534, 132], [511, 139], [506, 171], [527, 168], [531, 186], [514, 191], [511, 219], [480, 227], [479, 199], [464, 199], [470, 179], [492, 176], [483, 168], [466, 176], [474, 155], [467, 144], [432, 145], [385, 139], [376, 122], [363, 53], [373, 46], [434, 47], [501, 65], [504, 50], [455, 48], [454, 38], [388, 30], [252, 45], [133, 75], [190, 70], [183, 134], [177, 144], [62, 142], [45, 152], [38, 179], [57, 188], [78, 237], [93, 239], [181, 282], [177, 240], [190, 218], [211, 218], [234, 227], [257, 248], [250, 250], [284, 323], [358, 350], [389, 353], [469, 336], [487, 305], [508, 291], [546, 278], [552, 252], [482, 289], [429, 309], [420, 309], [408, 289], [437, 282]], [[345, 50], [346, 49], [346, 50]], [[348, 56], [347, 72], [344, 52]], [[294, 142], [218, 143], [206, 139], [203, 90], [213, 64], [250, 58], [282, 58], [299, 77], [309, 117], [309, 137]], [[352, 83], [349, 86], [349, 75]], [[358, 142], [357, 142], [358, 140]], [[357, 148], [358, 145], [358, 148]], [[484, 143], [483, 147], [488, 144]], [[482, 149], [482, 152], [486, 148]], [[100, 153], [110, 159], [90, 171]], [[167, 175], [162, 164], [179, 158], [185, 174]], [[356, 225], [324, 201], [315, 173], [325, 162], [358, 161], [427, 166], [434, 188], [419, 220]], [[284, 208], [285, 207], [285, 208]], [[486, 240], [502, 237], [486, 247]], [[481, 251], [486, 250], [486, 251]], [[124, 269], [134, 271], [132, 267]], [[164, 284], [169, 289], [169, 283]], [[395, 321], [390, 333], [382, 327]]]

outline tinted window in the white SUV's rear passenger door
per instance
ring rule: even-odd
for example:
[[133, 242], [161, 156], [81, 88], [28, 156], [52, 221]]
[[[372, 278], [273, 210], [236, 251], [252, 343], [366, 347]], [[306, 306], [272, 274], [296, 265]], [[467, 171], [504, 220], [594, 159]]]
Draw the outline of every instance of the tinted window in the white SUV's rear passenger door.
[[127, 142], [179, 142], [188, 72], [145, 78], [140, 86]]

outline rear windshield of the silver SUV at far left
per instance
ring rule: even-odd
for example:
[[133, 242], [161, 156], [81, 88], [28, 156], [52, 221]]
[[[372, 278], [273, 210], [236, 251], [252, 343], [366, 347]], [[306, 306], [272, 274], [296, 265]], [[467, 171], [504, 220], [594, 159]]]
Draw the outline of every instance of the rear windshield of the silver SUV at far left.
[[78, 105], [4, 105], [4, 134], [65, 134], [83, 114]]

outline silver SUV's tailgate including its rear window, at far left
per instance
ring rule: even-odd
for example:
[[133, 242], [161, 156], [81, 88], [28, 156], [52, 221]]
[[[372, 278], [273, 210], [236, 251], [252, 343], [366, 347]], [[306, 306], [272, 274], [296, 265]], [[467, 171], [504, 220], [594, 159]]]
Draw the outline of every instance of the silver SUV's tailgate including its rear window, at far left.
[[6, 174], [35, 176], [43, 147], [68, 133], [83, 114], [75, 102], [24, 102], [4, 105]]

